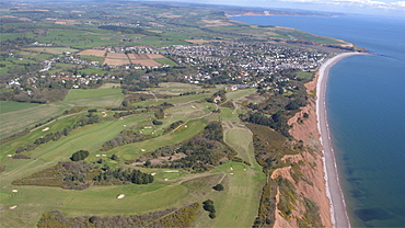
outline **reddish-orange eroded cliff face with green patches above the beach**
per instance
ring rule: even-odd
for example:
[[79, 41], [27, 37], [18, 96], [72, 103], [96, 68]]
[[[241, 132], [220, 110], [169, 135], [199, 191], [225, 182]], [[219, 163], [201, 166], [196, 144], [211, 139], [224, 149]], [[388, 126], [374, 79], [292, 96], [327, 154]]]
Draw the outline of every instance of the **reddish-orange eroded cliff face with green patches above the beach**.
[[[311, 225], [308, 220], [321, 218], [324, 227], [333, 227], [331, 221], [331, 204], [326, 196], [326, 183], [324, 179], [324, 168], [322, 161], [322, 146], [319, 140], [315, 93], [316, 78], [305, 84], [310, 96], [310, 102], [301, 109], [288, 124], [292, 125], [291, 136], [297, 140], [302, 140], [304, 150], [299, 155], [289, 155], [282, 158], [282, 161], [291, 164], [277, 169], [273, 172], [271, 179], [286, 179], [292, 183], [296, 192], [296, 201], [292, 203], [291, 214], [280, 213], [280, 202], [282, 190], [278, 187], [276, 202], [276, 221], [274, 227], [300, 227], [302, 224]], [[282, 202], [281, 202], [282, 203]], [[319, 208], [319, 215], [314, 212]], [[317, 217], [317, 219], [319, 219]], [[314, 224], [312, 224], [314, 225]]]

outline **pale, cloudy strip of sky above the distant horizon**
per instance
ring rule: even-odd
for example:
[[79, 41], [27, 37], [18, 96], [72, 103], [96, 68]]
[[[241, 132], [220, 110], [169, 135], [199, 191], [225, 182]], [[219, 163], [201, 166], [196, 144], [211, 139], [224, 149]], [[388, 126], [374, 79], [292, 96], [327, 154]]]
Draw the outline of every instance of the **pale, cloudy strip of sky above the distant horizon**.
[[327, 12], [386, 14], [405, 16], [405, 1], [398, 0], [163, 0], [163, 1], [231, 4], [231, 5], [263, 7], [263, 8], [289, 8]]

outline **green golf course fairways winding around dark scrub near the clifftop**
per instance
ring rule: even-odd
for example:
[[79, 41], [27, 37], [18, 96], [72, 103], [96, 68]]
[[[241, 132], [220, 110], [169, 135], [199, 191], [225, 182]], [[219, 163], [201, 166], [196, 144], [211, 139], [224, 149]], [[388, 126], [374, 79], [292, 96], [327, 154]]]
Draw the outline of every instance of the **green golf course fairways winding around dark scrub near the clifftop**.
[[[49, 116], [50, 107], [60, 109], [60, 112], [61, 107], [74, 105], [88, 105], [89, 107], [107, 104], [119, 105], [116, 98], [123, 96], [118, 86], [106, 83], [94, 90], [71, 90], [63, 102], [51, 105], [2, 102], [1, 115], [8, 117], [10, 126], [15, 126], [16, 121], [12, 116], [26, 116], [21, 118], [28, 118], [27, 116], [34, 114], [39, 116], [40, 109], [44, 110], [45, 116]], [[155, 92], [164, 93], [170, 89], [182, 92], [199, 88], [193, 84], [167, 83]], [[229, 94], [238, 103], [252, 92], [254, 90]], [[151, 123], [153, 113], [130, 115], [123, 118], [113, 118], [114, 112], [97, 113], [105, 117], [101, 123], [77, 128], [57, 141], [49, 141], [32, 151], [24, 152], [32, 158], [27, 160], [11, 159], [8, 155], [13, 155], [18, 147], [33, 144], [35, 139], [48, 133], [71, 126], [86, 112], [61, 116], [25, 136], [1, 145], [1, 163], [7, 166], [5, 171], [0, 173], [0, 196], [3, 208], [0, 210], [1, 225], [4, 227], [34, 227], [43, 213], [53, 209], [60, 209], [65, 216], [69, 217], [131, 215], [172, 207], [178, 208], [193, 202], [201, 203], [211, 198], [217, 209], [217, 218], [209, 219], [208, 214], [200, 208], [194, 226], [252, 226], [258, 209], [261, 189], [265, 181], [265, 175], [253, 157], [252, 134], [236, 117], [238, 112], [222, 107], [221, 113], [212, 113], [211, 111], [216, 109], [215, 104], [199, 102], [209, 95], [211, 94], [185, 95], [159, 101], [171, 102], [174, 106], [165, 110], [165, 117], [161, 119], [163, 124], [157, 126]], [[136, 160], [144, 152], [185, 141], [200, 133], [209, 122], [218, 119], [223, 121], [224, 141], [238, 152], [238, 157], [250, 162], [251, 166], [241, 162], [227, 162], [205, 173], [138, 168], [147, 173], [155, 173], [155, 181], [148, 185], [91, 186], [83, 191], [45, 186], [14, 186], [11, 184], [13, 180], [55, 166], [58, 161], [69, 160], [69, 157], [80, 149], [90, 151], [88, 158], [90, 162], [95, 162], [101, 156], [108, 162], [112, 155], [117, 155], [119, 161], [108, 162], [108, 164], [113, 168], [129, 167], [124, 163], [125, 160]], [[181, 129], [161, 135], [171, 123], [176, 121], [184, 121]], [[46, 132], [44, 132], [45, 128], [47, 128]], [[105, 141], [113, 139], [124, 129], [134, 129], [155, 137], [108, 151], [100, 151]], [[212, 190], [217, 183], [223, 184], [225, 190], [223, 192]], [[125, 198], [117, 200], [119, 194], [125, 194]], [[46, 200], [44, 200], [44, 195], [47, 196]]]

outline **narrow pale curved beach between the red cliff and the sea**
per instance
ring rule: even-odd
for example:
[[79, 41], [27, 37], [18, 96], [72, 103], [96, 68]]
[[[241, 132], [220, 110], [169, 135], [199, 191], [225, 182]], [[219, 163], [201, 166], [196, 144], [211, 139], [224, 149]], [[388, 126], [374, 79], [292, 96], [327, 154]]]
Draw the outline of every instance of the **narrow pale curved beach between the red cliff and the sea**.
[[[355, 55], [364, 55], [364, 53], [343, 53], [333, 58], [327, 59], [322, 64], [319, 70], [316, 81], [316, 117], [317, 130], [321, 135], [320, 141], [322, 145], [324, 179], [326, 187], [326, 196], [331, 204], [331, 220], [333, 227], [351, 227], [349, 216], [346, 209], [346, 202], [343, 190], [340, 187], [337, 163], [332, 147], [331, 132], [327, 123], [326, 112], [326, 82], [329, 69], [339, 60]], [[367, 55], [367, 54], [366, 54]]]

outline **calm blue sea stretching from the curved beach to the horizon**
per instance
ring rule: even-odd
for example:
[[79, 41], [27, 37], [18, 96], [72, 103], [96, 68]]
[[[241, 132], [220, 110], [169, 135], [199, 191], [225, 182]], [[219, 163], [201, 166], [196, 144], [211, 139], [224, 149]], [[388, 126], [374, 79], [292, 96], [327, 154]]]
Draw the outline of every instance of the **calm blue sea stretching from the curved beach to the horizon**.
[[326, 109], [352, 227], [405, 227], [405, 18], [233, 16], [345, 39], [373, 55], [329, 70]]

